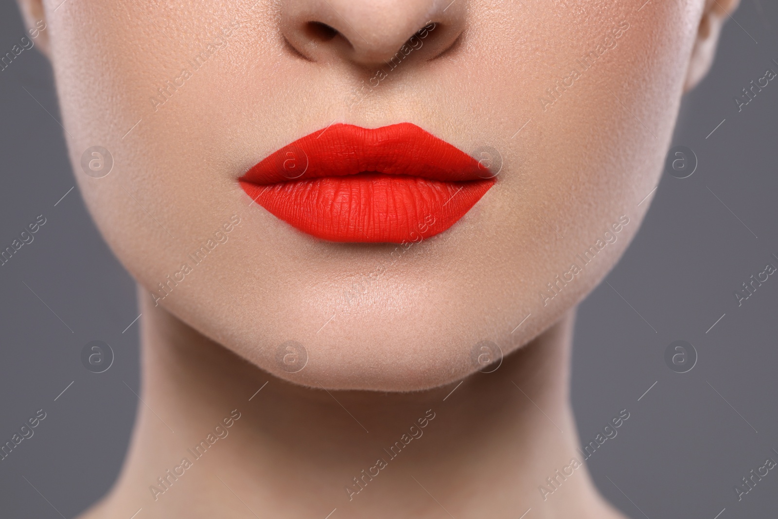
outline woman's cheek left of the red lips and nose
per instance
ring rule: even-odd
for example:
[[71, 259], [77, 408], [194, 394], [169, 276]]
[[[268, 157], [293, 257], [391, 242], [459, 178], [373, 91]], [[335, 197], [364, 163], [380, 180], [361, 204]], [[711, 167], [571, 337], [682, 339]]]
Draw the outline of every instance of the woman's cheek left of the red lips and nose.
[[[235, 67], [247, 44], [265, 40], [268, 26], [247, 18], [254, 2], [209, 8], [203, 16], [182, 16], [164, 2], [119, 3], [58, 9], [52, 61], [65, 140], [89, 212], [124, 266], [152, 291], [245, 209], [224, 203], [233, 195], [234, 170], [244, 167], [237, 163], [246, 160], [231, 145], [231, 128], [272, 116], [246, 114]], [[262, 2], [256, 9], [269, 10]], [[252, 66], [271, 68], [263, 59], [273, 58], [263, 54]], [[277, 83], [268, 76], [252, 73], [251, 80], [269, 91]], [[114, 162], [105, 177], [82, 171], [82, 153], [92, 146], [107, 149]], [[177, 289], [193, 296], [202, 285], [188, 279]]]

